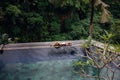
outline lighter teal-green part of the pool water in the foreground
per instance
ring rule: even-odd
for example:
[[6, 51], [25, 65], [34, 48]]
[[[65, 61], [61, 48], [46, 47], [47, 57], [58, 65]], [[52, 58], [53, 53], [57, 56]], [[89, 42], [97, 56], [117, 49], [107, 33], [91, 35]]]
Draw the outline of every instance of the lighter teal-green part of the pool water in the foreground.
[[75, 74], [73, 61], [51, 60], [6, 64], [0, 70], [0, 80], [94, 80], [81, 78]]

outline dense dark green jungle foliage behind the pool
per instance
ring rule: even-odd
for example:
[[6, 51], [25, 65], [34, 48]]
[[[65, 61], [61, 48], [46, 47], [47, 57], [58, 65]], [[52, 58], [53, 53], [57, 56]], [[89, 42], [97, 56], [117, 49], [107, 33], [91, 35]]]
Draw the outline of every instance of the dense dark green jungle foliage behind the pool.
[[[66, 1], [66, 2], [65, 2]], [[77, 40], [89, 36], [90, 1], [82, 0], [1, 0], [0, 34], [7, 33], [18, 42]], [[101, 11], [95, 9], [94, 36], [104, 30], [120, 41], [120, 1], [105, 0], [112, 16], [100, 23]]]

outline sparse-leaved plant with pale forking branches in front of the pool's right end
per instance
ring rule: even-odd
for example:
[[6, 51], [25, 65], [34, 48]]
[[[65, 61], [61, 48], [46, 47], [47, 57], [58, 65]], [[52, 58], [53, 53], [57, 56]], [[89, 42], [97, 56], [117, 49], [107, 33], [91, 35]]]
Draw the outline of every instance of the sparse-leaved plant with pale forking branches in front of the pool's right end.
[[[86, 45], [83, 45], [85, 55], [82, 56], [84, 62], [81, 60], [75, 62], [75, 66], [80, 68], [76, 72], [83, 77], [97, 78], [98, 80], [114, 80], [117, 74], [116, 71], [120, 69], [120, 46], [118, 44], [110, 45], [109, 41], [113, 37], [111, 33], [105, 32], [101, 37], [105, 41], [104, 44], [99, 42], [94, 43], [90, 37], [85, 42]], [[97, 73], [95, 75], [89, 74], [82, 67], [85, 64], [96, 69]]]

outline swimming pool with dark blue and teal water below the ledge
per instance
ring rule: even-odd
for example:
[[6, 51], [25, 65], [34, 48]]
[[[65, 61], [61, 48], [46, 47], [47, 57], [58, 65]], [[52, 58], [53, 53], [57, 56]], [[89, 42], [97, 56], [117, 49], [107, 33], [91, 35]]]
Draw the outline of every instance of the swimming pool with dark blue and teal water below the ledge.
[[[19, 49], [16, 45], [11, 46], [0, 55], [0, 80], [95, 80], [74, 72], [73, 62], [84, 55], [80, 47], [29, 48], [22, 44], [21, 48], [19, 44]], [[117, 71], [115, 80], [120, 80], [119, 76], [120, 71]]]

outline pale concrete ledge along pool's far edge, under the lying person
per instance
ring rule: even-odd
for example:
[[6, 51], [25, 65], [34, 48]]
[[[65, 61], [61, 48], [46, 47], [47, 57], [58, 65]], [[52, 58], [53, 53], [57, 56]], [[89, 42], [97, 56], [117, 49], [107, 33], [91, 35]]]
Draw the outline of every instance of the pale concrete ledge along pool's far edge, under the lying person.
[[51, 48], [55, 42], [60, 43], [72, 43], [72, 46], [80, 46], [83, 43], [83, 40], [75, 41], [53, 41], [53, 42], [33, 42], [33, 43], [17, 43], [17, 44], [8, 44], [5, 45], [4, 50], [19, 50], [19, 49], [34, 49], [34, 48]]

